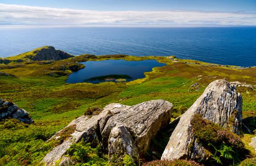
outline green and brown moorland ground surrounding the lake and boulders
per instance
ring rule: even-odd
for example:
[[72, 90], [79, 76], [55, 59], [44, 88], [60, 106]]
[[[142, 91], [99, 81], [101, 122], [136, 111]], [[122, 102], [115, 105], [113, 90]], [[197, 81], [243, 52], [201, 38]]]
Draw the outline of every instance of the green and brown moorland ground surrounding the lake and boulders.
[[[106, 59], [155, 59], [166, 66], [156, 67], [145, 73], [145, 78], [131, 82], [65, 83], [67, 74], [72, 72], [68, 66], [81, 61]], [[226, 79], [256, 85], [256, 68], [214, 66], [175, 57], [85, 54], [62, 61], [0, 64], [0, 72], [16, 76], [0, 76], [0, 98], [13, 100], [20, 108], [26, 109], [35, 121], [32, 125], [13, 119], [0, 122], [0, 165], [6, 166], [37, 165], [57, 144], [46, 140], [73, 119], [83, 115], [88, 108], [103, 108], [113, 102], [136, 105], [143, 101], [164, 99], [173, 103], [172, 116], [177, 118], [213, 80]], [[193, 84], [195, 86], [191, 87]], [[256, 116], [256, 87], [238, 87], [238, 92], [243, 96], [243, 118]], [[247, 149], [255, 155], [253, 148], [248, 145], [253, 136], [256, 135], [243, 134], [242, 138]]]

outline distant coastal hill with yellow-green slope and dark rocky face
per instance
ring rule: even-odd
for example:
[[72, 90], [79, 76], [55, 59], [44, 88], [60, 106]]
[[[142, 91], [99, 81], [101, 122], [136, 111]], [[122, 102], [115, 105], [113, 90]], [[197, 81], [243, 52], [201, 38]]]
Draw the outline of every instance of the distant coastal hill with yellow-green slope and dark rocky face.
[[45, 61], [45, 60], [63, 60], [70, 57], [74, 57], [71, 54], [56, 50], [52, 46], [44, 46], [36, 48], [30, 52], [25, 52], [14, 57], [7, 57], [0, 59], [0, 63], [8, 64], [11, 62], [22, 62], [22, 61]]

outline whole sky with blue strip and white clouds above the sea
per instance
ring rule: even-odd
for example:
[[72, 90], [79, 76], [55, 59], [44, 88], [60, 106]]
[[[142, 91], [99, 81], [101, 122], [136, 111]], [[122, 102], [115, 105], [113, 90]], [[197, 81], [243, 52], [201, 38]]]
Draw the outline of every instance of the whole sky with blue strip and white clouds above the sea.
[[0, 25], [256, 26], [256, 0], [0, 0]]

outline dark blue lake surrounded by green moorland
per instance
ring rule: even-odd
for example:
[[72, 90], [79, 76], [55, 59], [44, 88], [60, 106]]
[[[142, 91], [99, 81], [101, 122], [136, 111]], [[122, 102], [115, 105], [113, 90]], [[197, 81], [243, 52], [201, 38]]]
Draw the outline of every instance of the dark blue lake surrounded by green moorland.
[[106, 60], [106, 61], [86, 61], [86, 65], [69, 75], [66, 83], [102, 83], [106, 81], [116, 81], [116, 79], [126, 79], [132, 81], [144, 78], [144, 72], [152, 71], [154, 67], [165, 66], [156, 60], [145, 61], [124, 61], [124, 60]]

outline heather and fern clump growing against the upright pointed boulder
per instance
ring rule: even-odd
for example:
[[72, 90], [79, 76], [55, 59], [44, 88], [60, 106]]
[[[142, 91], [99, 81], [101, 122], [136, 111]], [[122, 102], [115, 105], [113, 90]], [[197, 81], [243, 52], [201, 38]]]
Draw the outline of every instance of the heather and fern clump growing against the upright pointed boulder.
[[206, 161], [207, 165], [238, 164], [248, 153], [238, 135], [203, 119], [201, 114], [194, 115], [191, 125], [195, 138], [207, 149], [211, 162]]

